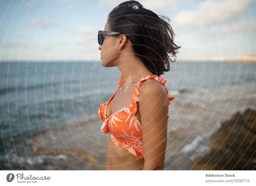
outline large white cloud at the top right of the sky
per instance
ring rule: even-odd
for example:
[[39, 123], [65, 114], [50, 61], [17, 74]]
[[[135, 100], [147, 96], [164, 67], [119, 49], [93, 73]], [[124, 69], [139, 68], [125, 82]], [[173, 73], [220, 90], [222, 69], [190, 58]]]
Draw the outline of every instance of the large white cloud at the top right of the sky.
[[252, 0], [234, 1], [205, 1], [201, 2], [197, 7], [198, 10], [184, 10], [183, 6], [179, 14], [173, 19], [175, 25], [181, 30], [191, 30], [193, 28], [201, 28], [212, 23], [222, 23], [236, 19], [241, 13], [248, 10], [248, 5]]

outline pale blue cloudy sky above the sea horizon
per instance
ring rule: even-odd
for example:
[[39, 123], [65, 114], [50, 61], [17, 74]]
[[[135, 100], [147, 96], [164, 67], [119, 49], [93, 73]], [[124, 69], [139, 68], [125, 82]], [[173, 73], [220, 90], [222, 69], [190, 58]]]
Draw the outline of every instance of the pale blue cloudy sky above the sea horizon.
[[[119, 0], [0, 0], [0, 63], [100, 61], [98, 30]], [[256, 56], [255, 0], [141, 0], [171, 19], [177, 60]]]

